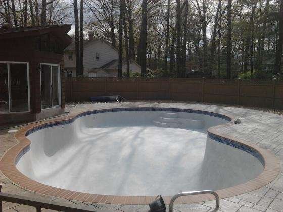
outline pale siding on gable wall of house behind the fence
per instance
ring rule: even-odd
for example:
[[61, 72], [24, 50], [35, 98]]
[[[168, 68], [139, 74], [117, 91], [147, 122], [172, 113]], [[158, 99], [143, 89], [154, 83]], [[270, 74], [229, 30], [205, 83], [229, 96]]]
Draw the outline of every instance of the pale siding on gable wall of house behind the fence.
[[[96, 53], [99, 53], [100, 60], [96, 60]], [[88, 43], [84, 49], [84, 76], [88, 76], [88, 70], [100, 68], [112, 60], [118, 59], [118, 52], [101, 40]]]

